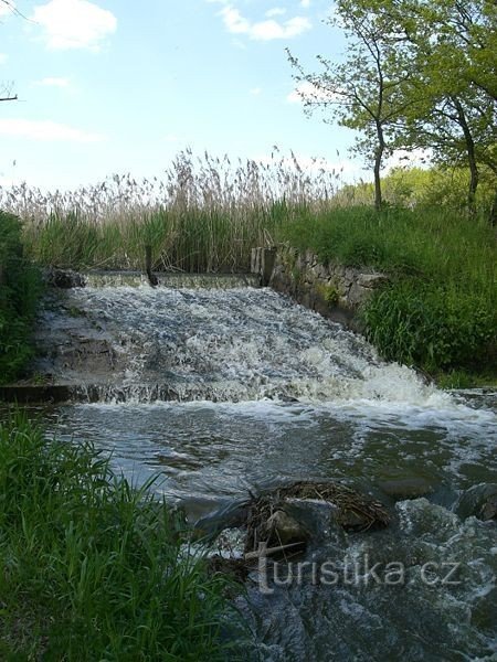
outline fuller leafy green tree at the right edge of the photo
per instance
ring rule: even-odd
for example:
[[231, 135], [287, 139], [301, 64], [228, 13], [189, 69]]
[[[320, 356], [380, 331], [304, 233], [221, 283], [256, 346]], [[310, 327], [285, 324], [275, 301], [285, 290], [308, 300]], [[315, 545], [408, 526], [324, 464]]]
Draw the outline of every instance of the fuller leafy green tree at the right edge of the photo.
[[419, 103], [408, 106], [398, 146], [427, 148], [442, 164], [465, 163], [475, 213], [480, 168], [497, 175], [497, 3], [400, 0], [390, 11], [404, 23], [417, 72], [404, 94]]

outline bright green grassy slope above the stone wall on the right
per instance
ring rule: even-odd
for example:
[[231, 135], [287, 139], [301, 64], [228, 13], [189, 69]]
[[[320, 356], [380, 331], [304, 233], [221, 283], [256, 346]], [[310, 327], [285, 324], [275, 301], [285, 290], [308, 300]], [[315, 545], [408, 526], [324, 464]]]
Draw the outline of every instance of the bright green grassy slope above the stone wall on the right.
[[385, 359], [433, 375], [496, 373], [497, 252], [484, 218], [443, 209], [302, 211], [281, 238], [324, 263], [391, 276], [361, 311]]

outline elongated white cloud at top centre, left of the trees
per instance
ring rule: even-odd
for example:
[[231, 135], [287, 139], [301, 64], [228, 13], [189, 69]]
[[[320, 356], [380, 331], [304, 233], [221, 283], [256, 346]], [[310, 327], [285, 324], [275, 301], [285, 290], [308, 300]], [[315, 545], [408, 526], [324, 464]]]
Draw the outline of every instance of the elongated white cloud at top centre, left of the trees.
[[233, 34], [246, 34], [255, 41], [289, 39], [311, 28], [310, 21], [304, 17], [295, 17], [284, 22], [278, 22], [274, 19], [252, 22], [232, 6], [224, 7], [220, 13], [229, 32]]

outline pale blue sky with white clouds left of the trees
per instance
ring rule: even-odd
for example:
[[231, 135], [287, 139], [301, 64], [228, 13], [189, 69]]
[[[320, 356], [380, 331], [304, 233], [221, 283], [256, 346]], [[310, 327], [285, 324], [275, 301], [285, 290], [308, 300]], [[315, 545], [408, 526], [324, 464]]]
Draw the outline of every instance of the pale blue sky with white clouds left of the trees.
[[[277, 146], [367, 178], [353, 135], [305, 116], [288, 47], [310, 71], [346, 43], [329, 0], [0, 0], [0, 185], [72, 189], [160, 177], [175, 156], [266, 160]], [[1, 96], [1, 95], [0, 95]]]

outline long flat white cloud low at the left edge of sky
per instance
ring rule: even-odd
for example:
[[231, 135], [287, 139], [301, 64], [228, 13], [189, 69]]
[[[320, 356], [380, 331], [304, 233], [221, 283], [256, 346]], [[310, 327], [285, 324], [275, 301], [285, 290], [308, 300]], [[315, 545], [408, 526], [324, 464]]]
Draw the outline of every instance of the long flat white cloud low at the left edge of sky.
[[47, 119], [0, 119], [0, 135], [43, 141], [101, 142], [105, 140], [105, 136], [101, 134], [91, 134]]

